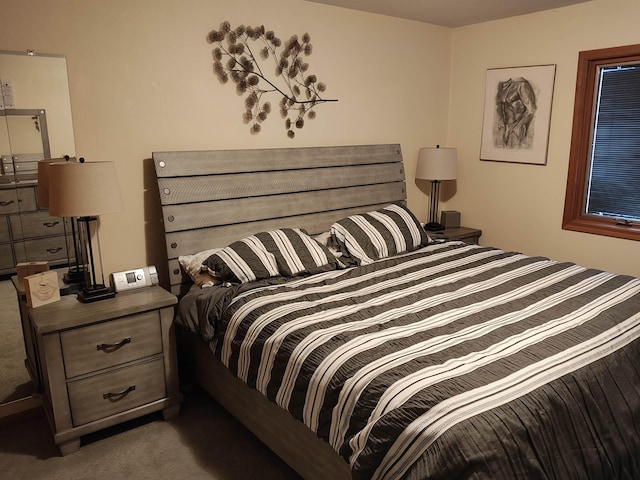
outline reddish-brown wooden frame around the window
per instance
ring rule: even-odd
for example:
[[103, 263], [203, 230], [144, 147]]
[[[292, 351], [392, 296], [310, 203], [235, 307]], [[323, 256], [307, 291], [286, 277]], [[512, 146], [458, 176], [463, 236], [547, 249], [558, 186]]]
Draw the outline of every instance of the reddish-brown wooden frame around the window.
[[611, 217], [589, 215], [584, 211], [598, 67], [629, 62], [640, 63], [640, 44], [588, 50], [580, 52], [578, 56], [569, 172], [562, 219], [564, 230], [640, 241], [640, 222], [627, 225]]

